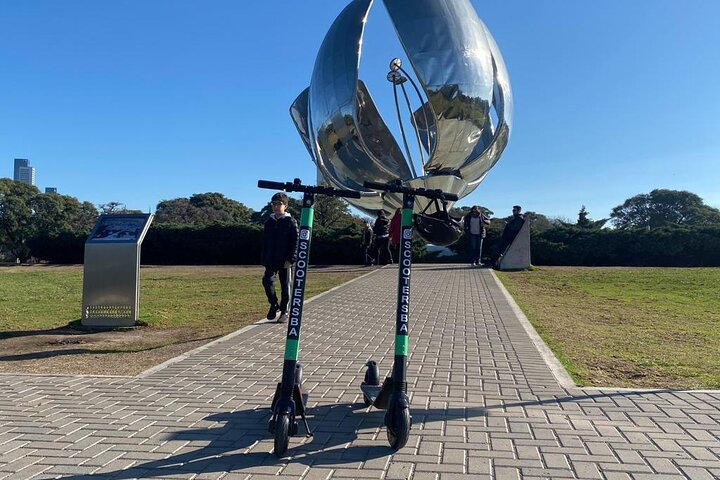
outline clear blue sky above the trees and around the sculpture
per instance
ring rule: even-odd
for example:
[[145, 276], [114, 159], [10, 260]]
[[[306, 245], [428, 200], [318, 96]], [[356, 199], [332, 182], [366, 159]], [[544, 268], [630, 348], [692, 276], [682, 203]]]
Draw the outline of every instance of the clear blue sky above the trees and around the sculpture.
[[[654, 188], [720, 207], [720, 2], [473, 5], [508, 66], [514, 130], [459, 205], [592, 218]], [[315, 178], [288, 115], [338, 0], [0, 3], [0, 177], [154, 210], [215, 191], [259, 209], [259, 178]], [[361, 78], [383, 96], [404, 57], [376, 0]], [[387, 105], [388, 108], [383, 108]]]

